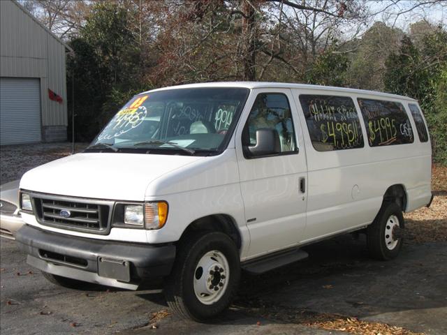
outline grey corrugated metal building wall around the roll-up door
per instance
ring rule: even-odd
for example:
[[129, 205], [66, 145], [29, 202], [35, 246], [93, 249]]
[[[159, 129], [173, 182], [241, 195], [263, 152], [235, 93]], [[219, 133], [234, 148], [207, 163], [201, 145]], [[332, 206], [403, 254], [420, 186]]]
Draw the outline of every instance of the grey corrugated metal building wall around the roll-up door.
[[66, 126], [66, 47], [13, 1], [0, 1], [0, 24], [0, 77], [40, 78], [42, 125]]

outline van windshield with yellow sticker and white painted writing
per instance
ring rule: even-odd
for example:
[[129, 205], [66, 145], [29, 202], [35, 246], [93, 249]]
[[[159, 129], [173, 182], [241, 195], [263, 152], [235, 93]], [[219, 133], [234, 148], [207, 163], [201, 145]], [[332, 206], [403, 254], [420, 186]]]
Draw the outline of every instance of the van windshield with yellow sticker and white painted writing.
[[87, 149], [218, 153], [228, 144], [248, 94], [249, 89], [242, 88], [139, 94], [115, 114]]

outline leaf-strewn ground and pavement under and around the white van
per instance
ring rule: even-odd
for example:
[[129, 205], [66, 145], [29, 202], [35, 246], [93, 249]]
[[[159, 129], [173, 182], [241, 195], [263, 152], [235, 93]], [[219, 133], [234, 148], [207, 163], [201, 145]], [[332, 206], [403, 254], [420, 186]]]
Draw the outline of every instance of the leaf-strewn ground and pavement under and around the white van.
[[[1, 184], [70, 153], [69, 143], [1, 147]], [[160, 283], [137, 292], [59, 288], [1, 239], [1, 333], [447, 334], [447, 168], [434, 166], [432, 190], [430, 208], [405, 214], [396, 260], [370, 260], [362, 235], [307, 246], [307, 260], [244, 274], [230, 310], [206, 324], [173, 315]]]

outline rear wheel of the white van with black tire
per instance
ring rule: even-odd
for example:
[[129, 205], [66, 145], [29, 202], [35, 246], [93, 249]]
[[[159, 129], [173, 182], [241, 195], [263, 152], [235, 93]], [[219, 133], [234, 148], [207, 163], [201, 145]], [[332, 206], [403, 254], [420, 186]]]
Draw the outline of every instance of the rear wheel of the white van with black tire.
[[[399, 221], [398, 223], [395, 223], [395, 218]], [[395, 202], [384, 203], [379, 214], [374, 218], [373, 223], [367, 228], [367, 246], [372, 258], [377, 260], [392, 260], [399, 255], [403, 244], [403, 237], [402, 234], [399, 237], [394, 237], [394, 233], [389, 234], [390, 223], [391, 225], [399, 225], [401, 229], [404, 228], [402, 209]], [[397, 241], [397, 243], [389, 241], [389, 236]], [[388, 239], [388, 242], [386, 239]]]

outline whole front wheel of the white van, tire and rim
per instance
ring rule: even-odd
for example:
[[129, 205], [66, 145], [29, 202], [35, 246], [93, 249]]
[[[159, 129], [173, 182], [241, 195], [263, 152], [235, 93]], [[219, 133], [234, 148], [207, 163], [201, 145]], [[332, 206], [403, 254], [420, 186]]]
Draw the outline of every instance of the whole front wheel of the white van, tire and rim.
[[186, 237], [164, 293], [170, 308], [182, 318], [203, 321], [226, 309], [240, 278], [239, 253], [230, 237], [203, 232]]

